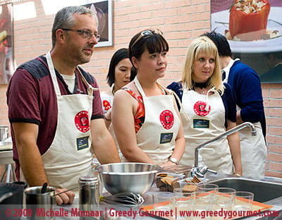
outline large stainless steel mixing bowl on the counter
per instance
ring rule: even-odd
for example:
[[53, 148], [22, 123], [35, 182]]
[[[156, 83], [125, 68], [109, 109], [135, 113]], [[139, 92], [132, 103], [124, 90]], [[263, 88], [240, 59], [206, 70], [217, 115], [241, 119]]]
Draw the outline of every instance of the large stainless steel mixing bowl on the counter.
[[154, 164], [116, 163], [96, 166], [94, 171], [112, 195], [116, 193], [146, 193], [161, 168]]

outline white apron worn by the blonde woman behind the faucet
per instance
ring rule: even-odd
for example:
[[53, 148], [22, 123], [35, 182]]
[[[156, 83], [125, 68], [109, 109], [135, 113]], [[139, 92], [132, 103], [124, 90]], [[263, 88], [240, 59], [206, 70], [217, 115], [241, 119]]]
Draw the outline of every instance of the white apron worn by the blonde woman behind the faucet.
[[[194, 166], [195, 148], [226, 132], [222, 99], [213, 88], [209, 92], [214, 94], [205, 95], [194, 90], [183, 90], [182, 105], [189, 121], [181, 115], [186, 147], [180, 164]], [[226, 138], [200, 149], [199, 157], [200, 166], [203, 163], [219, 173], [233, 173], [233, 160]]]

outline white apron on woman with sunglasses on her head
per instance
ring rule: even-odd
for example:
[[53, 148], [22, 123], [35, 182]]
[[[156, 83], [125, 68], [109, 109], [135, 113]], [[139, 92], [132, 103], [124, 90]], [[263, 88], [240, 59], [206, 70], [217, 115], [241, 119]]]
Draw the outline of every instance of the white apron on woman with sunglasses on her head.
[[[136, 134], [137, 145], [156, 164], [164, 164], [173, 153], [180, 128], [180, 118], [173, 106], [174, 97], [171, 94], [146, 97], [137, 78], [134, 82], [145, 107], [145, 121]], [[126, 161], [124, 157], [121, 159]]]

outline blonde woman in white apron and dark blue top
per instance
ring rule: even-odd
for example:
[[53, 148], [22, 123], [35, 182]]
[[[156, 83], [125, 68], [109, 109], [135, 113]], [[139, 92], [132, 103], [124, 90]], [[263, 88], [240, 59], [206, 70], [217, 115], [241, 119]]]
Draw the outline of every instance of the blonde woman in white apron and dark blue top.
[[[180, 164], [193, 165], [195, 148], [236, 126], [235, 94], [221, 81], [219, 54], [208, 37], [194, 39], [188, 47], [180, 82], [168, 89], [179, 97], [185, 135], [185, 152]], [[200, 167], [219, 173], [242, 175], [238, 133], [200, 149]]]

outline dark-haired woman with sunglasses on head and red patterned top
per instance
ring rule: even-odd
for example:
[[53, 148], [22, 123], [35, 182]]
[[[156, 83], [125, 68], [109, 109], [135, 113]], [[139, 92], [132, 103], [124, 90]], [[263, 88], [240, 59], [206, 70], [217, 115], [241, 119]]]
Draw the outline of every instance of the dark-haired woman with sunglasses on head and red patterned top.
[[112, 108], [121, 161], [172, 166], [182, 157], [185, 140], [175, 99], [157, 82], [165, 75], [167, 52], [160, 30], [144, 30], [130, 40], [137, 75], [116, 92]]

